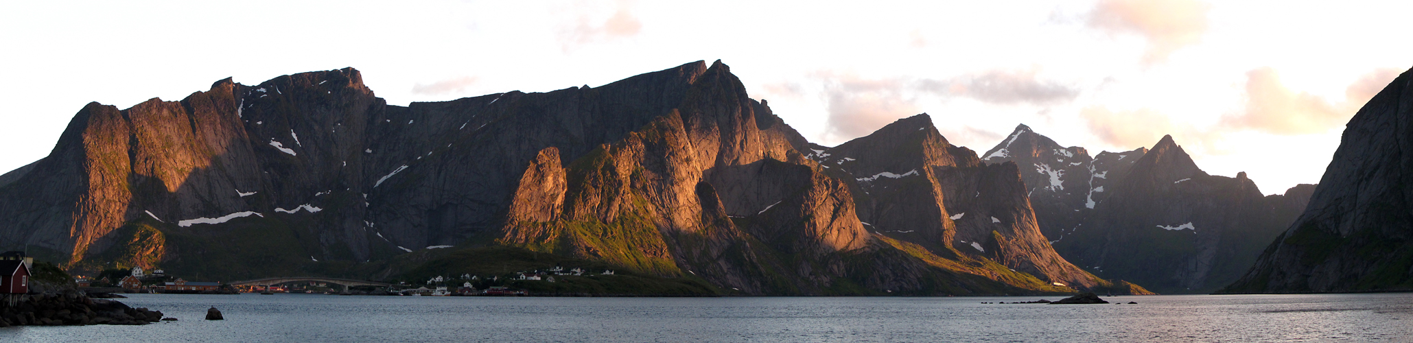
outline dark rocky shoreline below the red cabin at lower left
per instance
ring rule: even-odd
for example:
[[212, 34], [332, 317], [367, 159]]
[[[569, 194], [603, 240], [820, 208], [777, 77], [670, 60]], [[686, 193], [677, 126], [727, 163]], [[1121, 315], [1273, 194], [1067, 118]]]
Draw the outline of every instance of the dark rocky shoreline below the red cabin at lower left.
[[110, 299], [93, 299], [65, 289], [54, 294], [4, 295], [0, 298], [0, 327], [23, 325], [147, 325], [162, 312], [131, 308]]

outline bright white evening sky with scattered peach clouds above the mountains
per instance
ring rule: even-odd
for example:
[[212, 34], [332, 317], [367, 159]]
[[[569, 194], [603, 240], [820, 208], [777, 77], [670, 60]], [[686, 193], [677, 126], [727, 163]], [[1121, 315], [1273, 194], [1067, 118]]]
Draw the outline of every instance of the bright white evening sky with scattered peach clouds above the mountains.
[[1265, 193], [1316, 183], [1413, 66], [1413, 1], [7, 1], [0, 171], [89, 102], [353, 66], [391, 104], [599, 86], [722, 59], [805, 138], [928, 113], [978, 154], [1017, 124], [1089, 154], [1164, 134]]

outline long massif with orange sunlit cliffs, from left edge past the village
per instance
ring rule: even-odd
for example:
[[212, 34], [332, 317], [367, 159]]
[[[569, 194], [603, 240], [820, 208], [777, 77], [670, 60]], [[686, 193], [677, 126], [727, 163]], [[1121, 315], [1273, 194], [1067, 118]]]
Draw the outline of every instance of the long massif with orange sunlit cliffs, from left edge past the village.
[[926, 116], [880, 133], [811, 144], [721, 61], [406, 107], [352, 68], [225, 79], [85, 106], [0, 175], [0, 247], [225, 279], [622, 271], [569, 294], [1146, 292], [1060, 258], [1015, 165]]

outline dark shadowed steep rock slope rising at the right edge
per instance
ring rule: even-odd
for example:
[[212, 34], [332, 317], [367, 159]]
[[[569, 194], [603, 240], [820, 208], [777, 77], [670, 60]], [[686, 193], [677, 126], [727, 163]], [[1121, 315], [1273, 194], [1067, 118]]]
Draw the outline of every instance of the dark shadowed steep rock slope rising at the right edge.
[[1413, 289], [1410, 82], [1399, 75], [1359, 109], [1304, 213], [1222, 292]]

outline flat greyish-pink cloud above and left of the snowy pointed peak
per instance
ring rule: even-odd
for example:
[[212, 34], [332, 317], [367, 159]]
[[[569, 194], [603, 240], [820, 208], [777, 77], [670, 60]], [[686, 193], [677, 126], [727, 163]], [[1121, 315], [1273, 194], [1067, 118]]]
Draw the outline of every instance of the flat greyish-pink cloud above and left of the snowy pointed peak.
[[991, 69], [948, 80], [924, 79], [921, 90], [976, 99], [992, 104], [1054, 104], [1074, 100], [1080, 89], [1037, 76], [1039, 68]]

